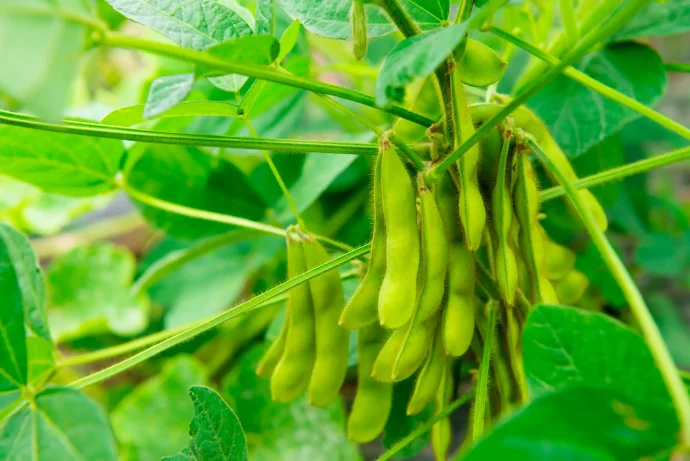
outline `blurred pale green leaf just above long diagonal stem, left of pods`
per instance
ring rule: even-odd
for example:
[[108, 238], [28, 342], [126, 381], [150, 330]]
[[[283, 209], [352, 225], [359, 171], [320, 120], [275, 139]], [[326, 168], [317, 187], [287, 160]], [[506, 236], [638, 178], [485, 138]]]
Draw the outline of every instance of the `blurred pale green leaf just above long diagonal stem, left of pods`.
[[[145, 264], [191, 247], [164, 240], [147, 255]], [[164, 326], [179, 327], [228, 308], [244, 293], [252, 274], [284, 247], [280, 238], [236, 242], [168, 274], [149, 290], [152, 300], [165, 309]]]

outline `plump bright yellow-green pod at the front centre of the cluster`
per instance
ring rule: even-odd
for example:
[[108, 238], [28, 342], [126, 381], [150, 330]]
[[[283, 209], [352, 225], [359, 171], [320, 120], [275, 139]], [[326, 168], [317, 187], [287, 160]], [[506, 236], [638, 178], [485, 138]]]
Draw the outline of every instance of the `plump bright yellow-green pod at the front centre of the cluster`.
[[419, 233], [412, 181], [392, 146], [381, 159], [381, 197], [386, 223], [386, 273], [379, 293], [379, 322], [405, 325], [417, 304]]

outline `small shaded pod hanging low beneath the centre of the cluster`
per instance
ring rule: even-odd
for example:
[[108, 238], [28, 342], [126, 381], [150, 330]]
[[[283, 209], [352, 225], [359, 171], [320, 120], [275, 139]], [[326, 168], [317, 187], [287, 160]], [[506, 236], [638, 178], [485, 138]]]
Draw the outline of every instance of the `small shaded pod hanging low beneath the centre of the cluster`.
[[443, 338], [439, 328], [434, 334], [424, 366], [415, 380], [414, 391], [407, 404], [408, 415], [416, 415], [421, 412], [434, 399], [443, 378], [446, 362]]

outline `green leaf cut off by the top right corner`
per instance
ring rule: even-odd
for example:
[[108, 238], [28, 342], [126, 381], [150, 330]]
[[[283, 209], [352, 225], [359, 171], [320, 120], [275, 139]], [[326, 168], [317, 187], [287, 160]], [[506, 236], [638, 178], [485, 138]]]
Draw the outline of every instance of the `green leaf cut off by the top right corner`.
[[615, 35], [615, 40], [680, 34], [690, 30], [690, 1], [649, 2]]

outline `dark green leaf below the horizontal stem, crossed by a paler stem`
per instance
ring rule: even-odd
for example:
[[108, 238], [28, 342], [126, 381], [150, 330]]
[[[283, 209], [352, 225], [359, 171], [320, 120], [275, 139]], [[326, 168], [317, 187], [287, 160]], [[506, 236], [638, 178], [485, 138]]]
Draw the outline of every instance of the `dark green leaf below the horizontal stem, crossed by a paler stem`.
[[[199, 149], [151, 146], [138, 158], [129, 159], [127, 171], [131, 187], [159, 199], [251, 220], [263, 218], [265, 204], [244, 173], [230, 161]], [[173, 237], [192, 239], [230, 229], [225, 224], [137, 205], [147, 220]]]

